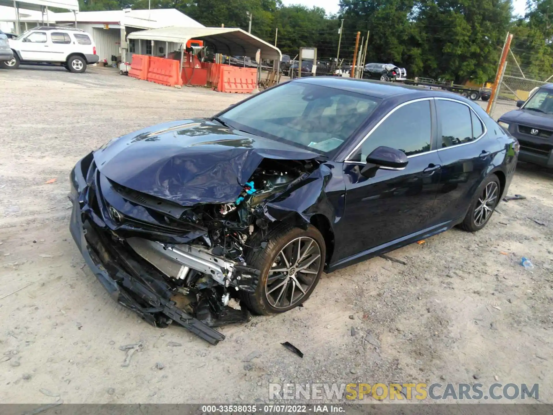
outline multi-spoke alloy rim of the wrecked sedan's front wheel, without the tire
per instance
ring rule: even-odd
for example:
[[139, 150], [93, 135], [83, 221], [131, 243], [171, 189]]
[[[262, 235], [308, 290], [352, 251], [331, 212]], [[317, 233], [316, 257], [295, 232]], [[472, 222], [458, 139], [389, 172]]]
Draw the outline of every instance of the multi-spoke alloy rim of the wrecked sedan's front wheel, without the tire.
[[271, 307], [301, 304], [317, 279], [321, 261], [321, 248], [313, 238], [301, 236], [288, 242], [275, 257], [265, 283]]

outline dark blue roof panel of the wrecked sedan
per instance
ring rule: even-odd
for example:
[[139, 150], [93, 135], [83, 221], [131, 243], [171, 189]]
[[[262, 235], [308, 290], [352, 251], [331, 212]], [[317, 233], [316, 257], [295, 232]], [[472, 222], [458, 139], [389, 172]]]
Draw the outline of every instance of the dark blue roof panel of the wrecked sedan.
[[[304, 82], [312, 85], [326, 86], [348, 92], [356, 92], [372, 96], [374, 98], [391, 98], [399, 96], [410, 96], [411, 98], [424, 98], [443, 96], [451, 97], [451, 92], [427, 90], [419, 86], [399, 84], [397, 82], [383, 82], [368, 79], [353, 79], [341, 76], [310, 76], [296, 78], [291, 82]], [[550, 84], [553, 88], [553, 84]], [[455, 95], [455, 98], [463, 101], [463, 97]]]

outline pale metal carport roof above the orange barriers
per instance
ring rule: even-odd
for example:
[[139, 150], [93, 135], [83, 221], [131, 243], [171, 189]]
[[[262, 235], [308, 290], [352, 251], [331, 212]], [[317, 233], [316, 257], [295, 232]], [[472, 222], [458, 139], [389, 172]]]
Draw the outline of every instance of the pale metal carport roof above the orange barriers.
[[238, 28], [217, 27], [165, 27], [140, 30], [128, 35], [129, 39], [161, 40], [162, 42], [186, 43], [190, 39], [206, 40], [215, 46], [217, 53], [238, 56], [255, 56], [261, 49], [263, 59], [282, 58], [280, 49]]

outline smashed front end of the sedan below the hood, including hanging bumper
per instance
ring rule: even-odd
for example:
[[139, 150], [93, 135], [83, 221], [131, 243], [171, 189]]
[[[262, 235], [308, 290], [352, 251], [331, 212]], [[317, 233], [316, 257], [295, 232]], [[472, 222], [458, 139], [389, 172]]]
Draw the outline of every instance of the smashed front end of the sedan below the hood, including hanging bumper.
[[267, 246], [273, 222], [309, 224], [328, 174], [323, 161], [262, 158], [231, 200], [186, 206], [106, 177], [90, 153], [71, 173], [71, 233], [119, 303], [150, 324], [177, 323], [216, 344], [224, 336], [211, 327], [251, 318], [242, 296], [255, 291], [260, 269], [247, 257]]

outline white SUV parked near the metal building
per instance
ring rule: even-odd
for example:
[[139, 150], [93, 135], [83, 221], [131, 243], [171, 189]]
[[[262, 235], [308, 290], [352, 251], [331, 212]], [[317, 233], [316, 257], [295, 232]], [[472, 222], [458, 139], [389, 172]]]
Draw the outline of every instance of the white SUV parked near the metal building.
[[17, 69], [19, 64], [59, 63], [71, 72], [84, 72], [98, 61], [92, 37], [81, 29], [42, 26], [9, 39], [13, 59], [0, 67]]

